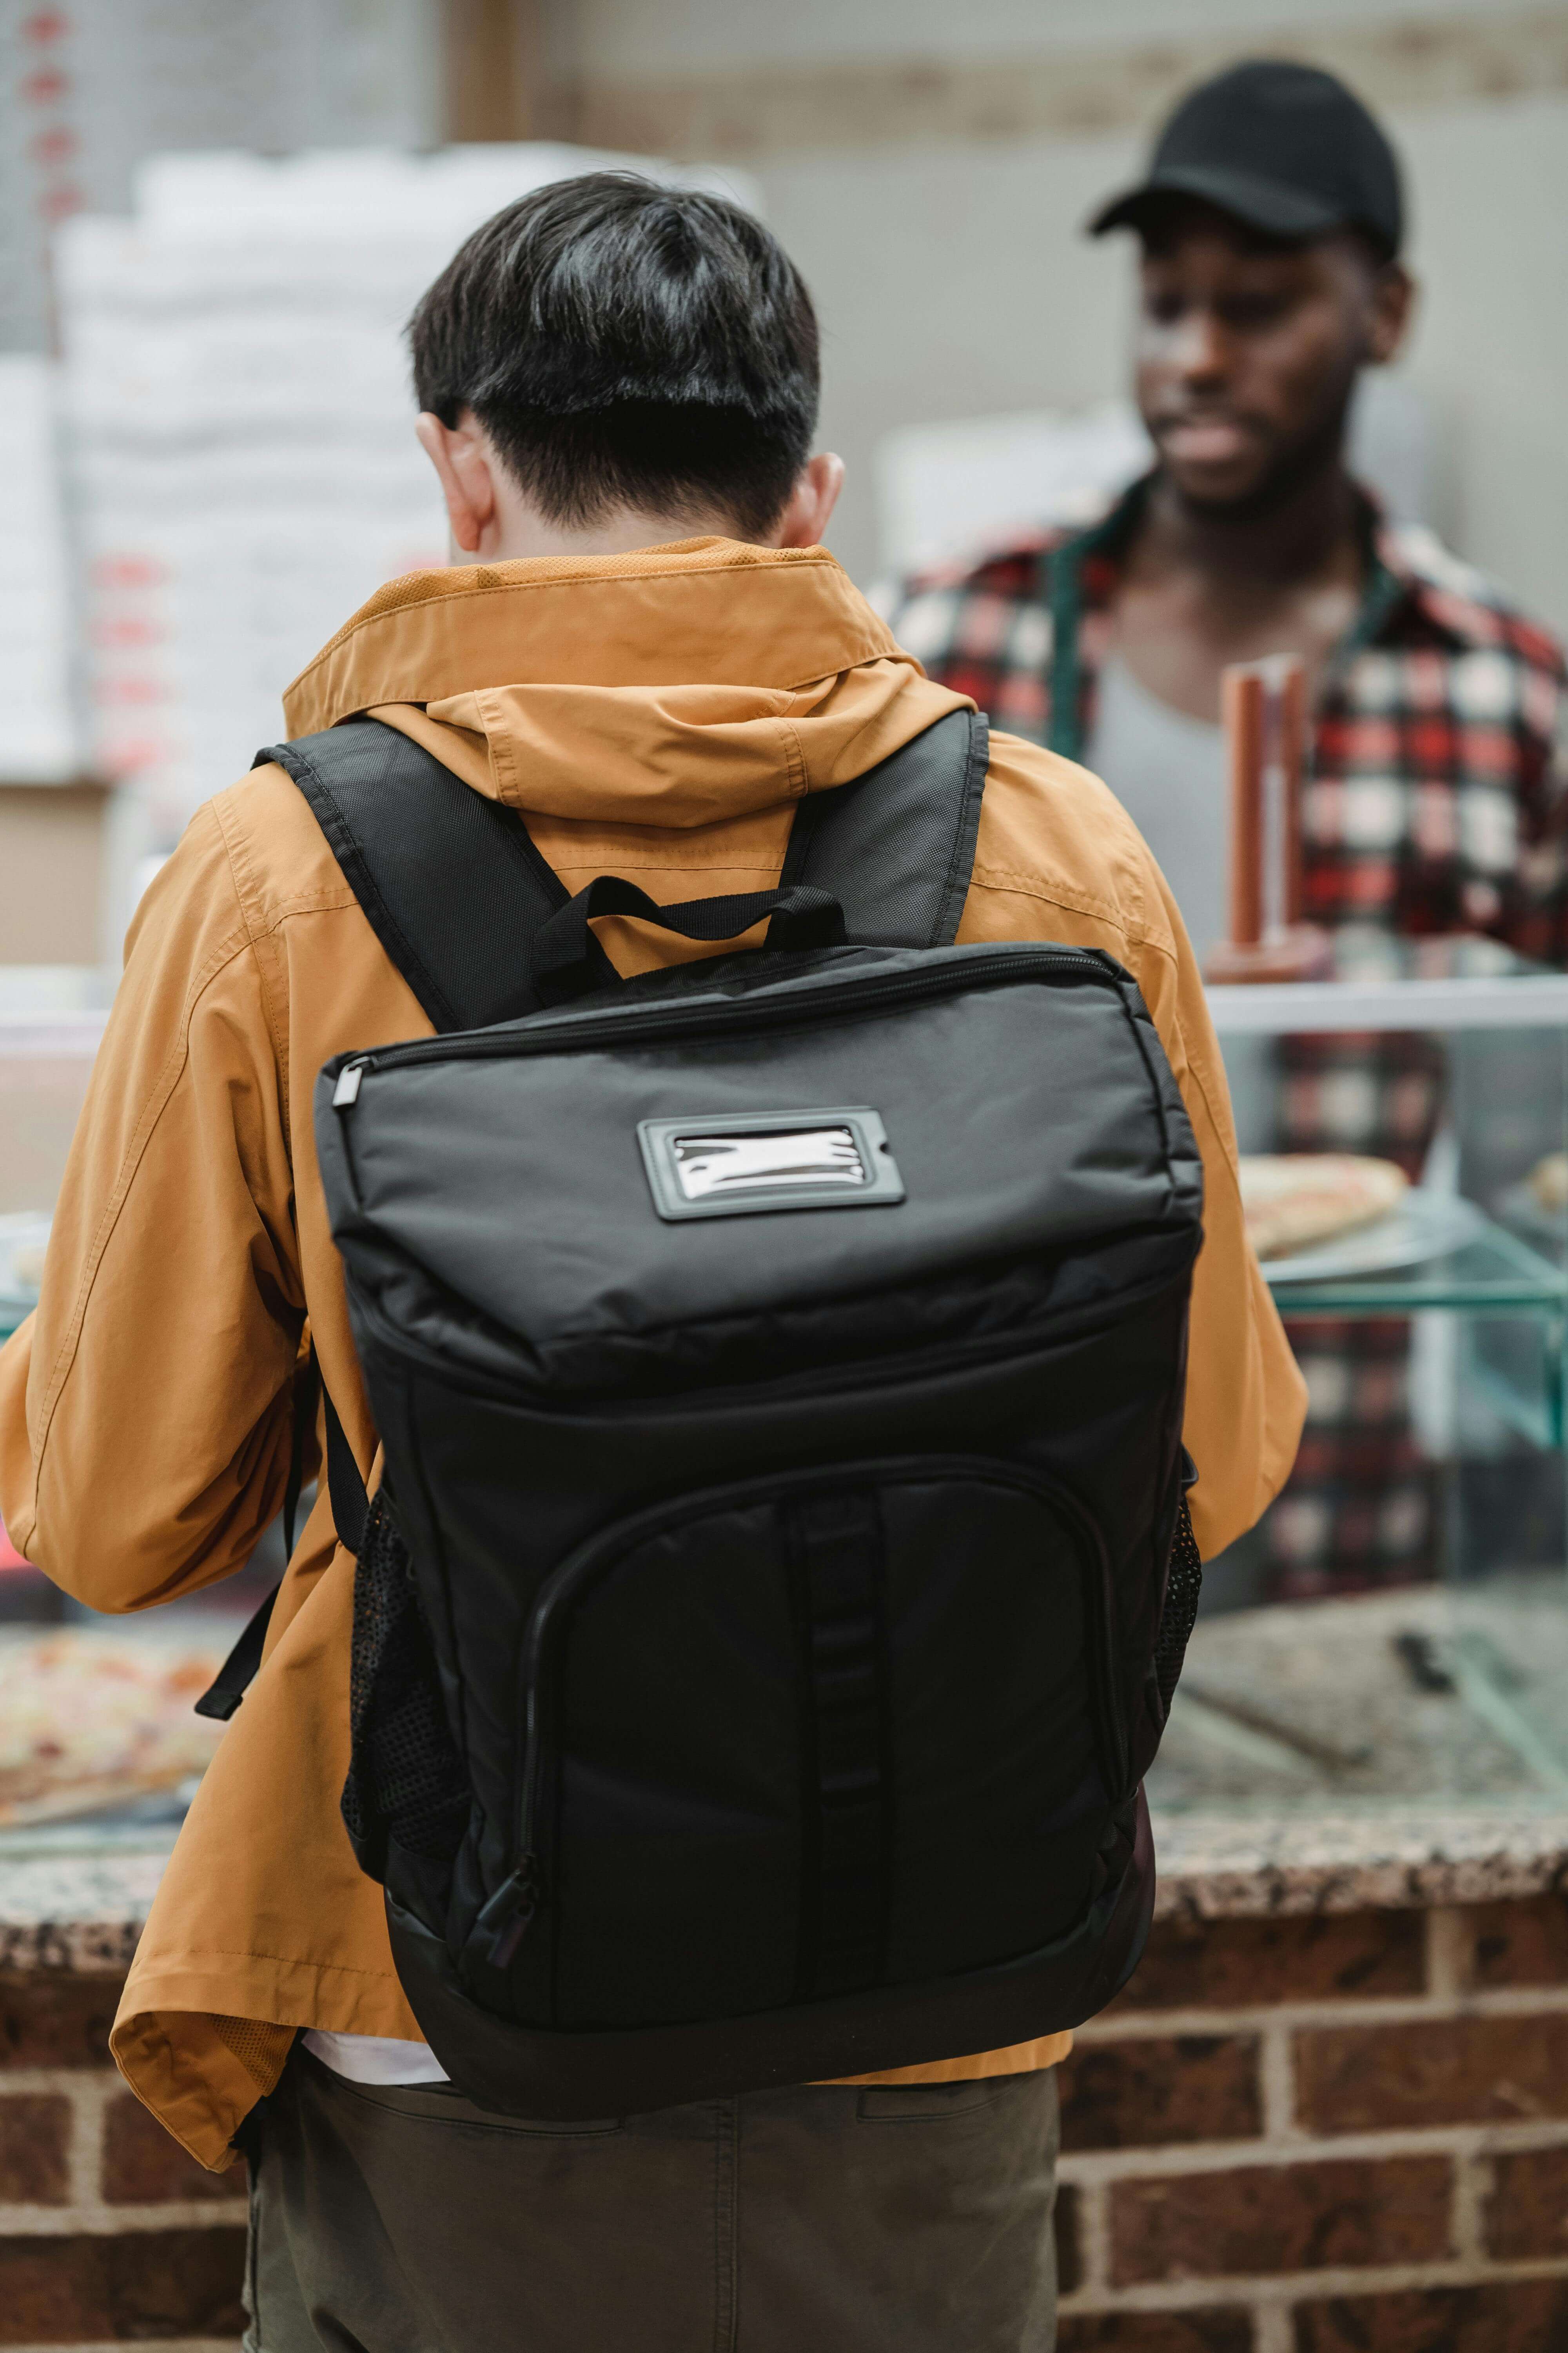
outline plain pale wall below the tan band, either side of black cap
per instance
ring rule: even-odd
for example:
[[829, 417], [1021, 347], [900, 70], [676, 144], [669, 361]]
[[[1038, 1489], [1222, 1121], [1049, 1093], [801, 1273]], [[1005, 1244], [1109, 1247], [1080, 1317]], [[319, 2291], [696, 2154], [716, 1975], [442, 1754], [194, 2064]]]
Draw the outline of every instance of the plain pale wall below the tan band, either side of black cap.
[[[1406, 367], [1432, 412], [1436, 522], [1568, 633], [1568, 99], [1392, 129], [1415, 195]], [[853, 572], [877, 562], [870, 456], [889, 426], [1121, 388], [1128, 245], [1079, 224], [1135, 162], [1121, 134], [755, 167], [823, 308], [823, 431], [851, 464], [835, 546]]]

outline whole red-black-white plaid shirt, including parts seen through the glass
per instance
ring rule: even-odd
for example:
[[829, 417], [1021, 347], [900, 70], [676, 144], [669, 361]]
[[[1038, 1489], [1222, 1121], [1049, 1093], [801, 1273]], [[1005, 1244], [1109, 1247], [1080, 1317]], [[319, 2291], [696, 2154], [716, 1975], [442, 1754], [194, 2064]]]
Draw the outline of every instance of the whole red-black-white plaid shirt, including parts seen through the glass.
[[[1079, 760], [1147, 478], [1093, 527], [1037, 532], [910, 581], [900, 645], [992, 725]], [[1302, 791], [1305, 913], [1331, 929], [1486, 932], [1568, 965], [1568, 673], [1429, 532], [1363, 494], [1366, 588], [1335, 647]], [[1432, 1038], [1293, 1038], [1284, 1151], [1382, 1153], [1418, 1174], [1443, 1085]], [[1432, 1567], [1429, 1466], [1408, 1426], [1403, 1322], [1291, 1322], [1309, 1412], [1267, 1520], [1276, 1593]]]

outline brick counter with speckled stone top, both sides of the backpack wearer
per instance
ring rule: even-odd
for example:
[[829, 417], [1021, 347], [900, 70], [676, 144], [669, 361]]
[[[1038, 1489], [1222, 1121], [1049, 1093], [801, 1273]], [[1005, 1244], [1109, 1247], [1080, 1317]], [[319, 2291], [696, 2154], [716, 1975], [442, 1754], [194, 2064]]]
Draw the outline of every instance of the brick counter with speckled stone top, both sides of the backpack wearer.
[[[1568, 1612], [1251, 1619], [1194, 1638], [1154, 1934], [1060, 2075], [1060, 2353], [1561, 2353]], [[1448, 1682], [1394, 1673], [1410, 1631]], [[242, 2177], [108, 2066], [174, 1831], [122, 1838], [0, 1838], [7, 2353], [237, 2353]]]

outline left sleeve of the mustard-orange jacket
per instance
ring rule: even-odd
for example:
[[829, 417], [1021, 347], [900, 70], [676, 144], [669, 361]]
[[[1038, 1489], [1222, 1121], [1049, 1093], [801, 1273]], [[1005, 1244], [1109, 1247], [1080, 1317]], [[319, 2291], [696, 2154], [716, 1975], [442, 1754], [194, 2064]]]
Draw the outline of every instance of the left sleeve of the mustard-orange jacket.
[[282, 1035], [202, 809], [132, 925], [40, 1304], [0, 1353], [0, 1513], [94, 1609], [228, 1577], [282, 1504], [303, 1327]]

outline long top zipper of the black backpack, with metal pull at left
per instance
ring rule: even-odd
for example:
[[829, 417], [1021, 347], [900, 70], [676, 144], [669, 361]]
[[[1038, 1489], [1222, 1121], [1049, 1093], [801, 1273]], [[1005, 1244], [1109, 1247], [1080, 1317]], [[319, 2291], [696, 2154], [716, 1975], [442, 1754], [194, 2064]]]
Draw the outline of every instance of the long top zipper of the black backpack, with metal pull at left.
[[[715, 1028], [790, 1028], [823, 1014], [860, 1014], [882, 1005], [917, 1005], [922, 998], [947, 998], [964, 988], [985, 988], [1013, 979], [1072, 974], [1119, 988], [1121, 974], [1098, 948], [1006, 948], [999, 955], [973, 955], [940, 972], [884, 972], [865, 979], [790, 988], [788, 995], [719, 998], [698, 1005], [649, 1005], [630, 1012], [576, 1014], [564, 1021], [531, 1026], [505, 1024], [461, 1031], [444, 1038], [409, 1038], [404, 1045], [355, 1054], [339, 1068], [331, 1101], [339, 1111], [360, 1094], [369, 1071], [400, 1071], [423, 1061], [505, 1061], [508, 1056], [569, 1054], [592, 1045], [639, 1045], [646, 1038], [701, 1038]], [[844, 1002], [844, 1000], [851, 1002]]]

